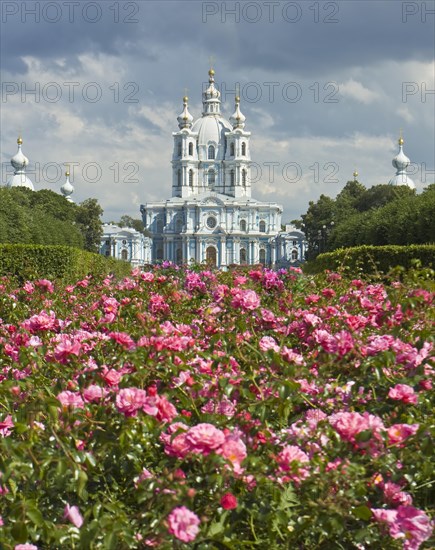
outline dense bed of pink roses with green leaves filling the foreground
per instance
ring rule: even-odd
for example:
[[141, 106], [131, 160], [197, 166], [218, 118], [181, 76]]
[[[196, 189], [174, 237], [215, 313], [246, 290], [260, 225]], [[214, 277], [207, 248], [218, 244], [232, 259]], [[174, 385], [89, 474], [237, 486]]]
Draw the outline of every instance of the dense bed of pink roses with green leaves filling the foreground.
[[0, 285], [1, 548], [434, 546], [427, 272]]

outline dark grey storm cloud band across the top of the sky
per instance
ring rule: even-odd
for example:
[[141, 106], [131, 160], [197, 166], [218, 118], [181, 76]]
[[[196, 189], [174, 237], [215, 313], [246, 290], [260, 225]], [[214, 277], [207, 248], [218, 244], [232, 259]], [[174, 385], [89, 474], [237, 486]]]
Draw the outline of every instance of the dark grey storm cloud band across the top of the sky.
[[53, 7], [44, 11], [50, 4], [3, 2], [3, 69], [23, 72], [20, 58], [25, 55], [74, 58], [89, 51], [138, 62], [161, 60], [165, 49], [183, 44], [214, 53], [234, 67], [299, 75], [323, 75], [382, 59], [433, 57], [431, 1], [83, 1], [74, 8], [73, 2], [59, 2], [60, 12]]

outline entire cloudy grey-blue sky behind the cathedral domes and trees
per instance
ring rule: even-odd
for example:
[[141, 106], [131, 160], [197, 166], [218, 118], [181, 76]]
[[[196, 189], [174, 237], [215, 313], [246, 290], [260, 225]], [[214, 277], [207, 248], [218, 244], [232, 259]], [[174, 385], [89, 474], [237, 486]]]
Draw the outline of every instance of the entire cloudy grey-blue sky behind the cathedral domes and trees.
[[[403, 129], [417, 190], [435, 181], [435, 2], [8, 1], [1, 4], [1, 184], [22, 135], [35, 189], [104, 220], [171, 194], [182, 97], [201, 114], [210, 60], [224, 114], [240, 88], [253, 195], [283, 221], [356, 168], [387, 183]], [[75, 163], [75, 164], [74, 164]]]

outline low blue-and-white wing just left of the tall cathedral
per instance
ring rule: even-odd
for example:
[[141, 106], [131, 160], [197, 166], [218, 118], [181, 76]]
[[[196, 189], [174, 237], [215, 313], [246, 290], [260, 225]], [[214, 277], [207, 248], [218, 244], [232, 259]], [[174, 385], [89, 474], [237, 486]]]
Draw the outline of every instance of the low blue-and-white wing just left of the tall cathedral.
[[151, 239], [131, 227], [105, 223], [100, 254], [130, 262], [133, 267], [151, 263]]

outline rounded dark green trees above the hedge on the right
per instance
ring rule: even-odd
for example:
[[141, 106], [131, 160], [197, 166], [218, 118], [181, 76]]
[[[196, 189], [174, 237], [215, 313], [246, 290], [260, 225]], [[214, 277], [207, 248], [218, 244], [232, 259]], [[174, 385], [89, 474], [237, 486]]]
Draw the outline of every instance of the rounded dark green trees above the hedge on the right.
[[335, 200], [321, 195], [316, 203], [309, 203], [302, 216], [307, 260], [338, 248], [431, 243], [434, 213], [435, 185], [417, 195], [406, 186], [366, 189], [349, 181]]

